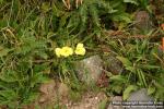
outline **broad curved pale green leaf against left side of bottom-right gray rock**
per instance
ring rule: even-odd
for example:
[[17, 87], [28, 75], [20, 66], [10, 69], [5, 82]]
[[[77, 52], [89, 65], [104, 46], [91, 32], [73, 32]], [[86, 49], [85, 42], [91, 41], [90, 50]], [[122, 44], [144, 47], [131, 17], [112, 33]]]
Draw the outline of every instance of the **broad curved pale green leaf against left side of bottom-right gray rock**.
[[138, 87], [136, 85], [129, 85], [124, 92], [124, 95], [122, 95], [124, 100], [126, 100], [129, 97], [132, 90], [137, 90], [137, 88]]

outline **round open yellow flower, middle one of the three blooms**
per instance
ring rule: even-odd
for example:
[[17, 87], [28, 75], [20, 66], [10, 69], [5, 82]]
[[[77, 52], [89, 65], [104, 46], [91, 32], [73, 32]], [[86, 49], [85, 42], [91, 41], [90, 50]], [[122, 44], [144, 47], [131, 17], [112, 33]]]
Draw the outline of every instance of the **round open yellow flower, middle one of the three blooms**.
[[73, 49], [71, 47], [62, 47], [60, 50], [60, 55], [63, 57], [69, 57], [71, 55], [73, 55]]

